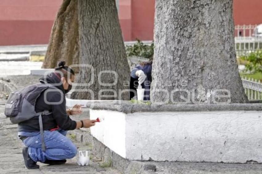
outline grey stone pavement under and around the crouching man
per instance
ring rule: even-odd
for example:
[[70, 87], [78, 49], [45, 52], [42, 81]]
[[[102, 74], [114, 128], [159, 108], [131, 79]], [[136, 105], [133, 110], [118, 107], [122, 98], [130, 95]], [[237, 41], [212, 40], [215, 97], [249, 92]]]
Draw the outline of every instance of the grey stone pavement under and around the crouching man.
[[[101, 166], [100, 159], [97, 159], [92, 154], [92, 147], [81, 144], [72, 138], [79, 150], [89, 150], [92, 161], [88, 166], [79, 166], [76, 164], [77, 157], [67, 160], [63, 165], [47, 165], [39, 163], [40, 169], [28, 170], [23, 161], [22, 148], [23, 143], [17, 138], [17, 125], [11, 124], [8, 118], [4, 115], [4, 101], [0, 100], [0, 173], [87, 173], [87, 174], [118, 174], [118, 170], [111, 167]], [[105, 166], [105, 165], [104, 165]]]

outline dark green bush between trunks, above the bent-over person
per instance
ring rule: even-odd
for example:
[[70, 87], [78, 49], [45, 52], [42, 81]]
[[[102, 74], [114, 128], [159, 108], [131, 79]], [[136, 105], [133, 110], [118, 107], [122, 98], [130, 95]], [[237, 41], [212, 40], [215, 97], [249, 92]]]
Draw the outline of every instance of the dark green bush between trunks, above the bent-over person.
[[130, 56], [139, 56], [146, 58], [153, 58], [154, 55], [154, 43], [151, 45], [144, 45], [143, 42], [137, 39], [137, 43], [134, 45], [126, 45], [126, 54], [128, 57]]

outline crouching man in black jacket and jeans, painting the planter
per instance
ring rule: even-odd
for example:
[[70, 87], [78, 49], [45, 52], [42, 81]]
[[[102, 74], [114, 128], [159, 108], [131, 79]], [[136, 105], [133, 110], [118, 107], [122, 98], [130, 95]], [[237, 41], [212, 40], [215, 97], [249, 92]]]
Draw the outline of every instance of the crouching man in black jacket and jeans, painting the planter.
[[66, 110], [65, 93], [72, 88], [74, 71], [64, 65], [64, 61], [60, 62], [55, 72], [40, 78], [41, 83], [51, 84], [55, 88], [46, 93], [42, 92], [35, 103], [37, 113], [45, 110], [51, 113], [42, 115], [45, 150], [42, 148], [38, 116], [18, 124], [18, 137], [27, 146], [23, 148], [23, 157], [28, 169], [39, 168], [37, 162], [64, 164], [66, 159], [73, 158], [77, 153], [76, 146], [66, 137], [67, 130], [95, 125], [96, 120], [73, 121], [69, 117], [82, 111], [79, 105], [75, 105], [72, 110]]

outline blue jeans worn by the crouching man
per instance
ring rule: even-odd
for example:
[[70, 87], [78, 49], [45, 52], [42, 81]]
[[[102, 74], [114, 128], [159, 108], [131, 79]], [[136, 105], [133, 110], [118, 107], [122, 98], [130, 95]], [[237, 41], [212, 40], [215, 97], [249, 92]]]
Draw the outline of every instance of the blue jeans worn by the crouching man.
[[64, 160], [76, 156], [77, 148], [72, 141], [66, 137], [67, 131], [44, 131], [46, 151], [41, 148], [40, 132], [35, 136], [27, 137], [23, 143], [28, 147], [28, 153], [35, 162], [45, 160]]

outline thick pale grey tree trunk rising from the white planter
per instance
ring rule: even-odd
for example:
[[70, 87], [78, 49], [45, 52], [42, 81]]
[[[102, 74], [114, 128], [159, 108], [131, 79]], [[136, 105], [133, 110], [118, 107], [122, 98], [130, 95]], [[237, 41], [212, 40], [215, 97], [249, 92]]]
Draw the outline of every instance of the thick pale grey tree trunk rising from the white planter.
[[[152, 102], [248, 102], [235, 56], [232, 0], [157, 0], [154, 43]], [[214, 102], [218, 94], [231, 97]]]

